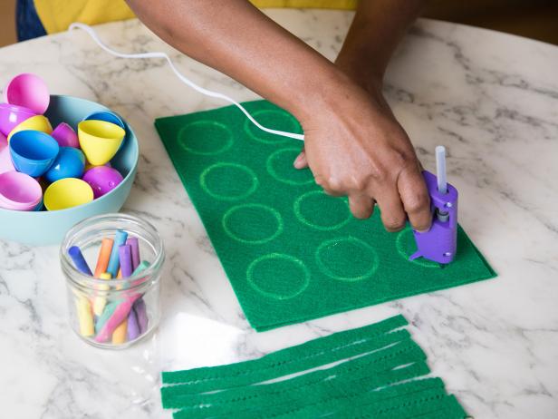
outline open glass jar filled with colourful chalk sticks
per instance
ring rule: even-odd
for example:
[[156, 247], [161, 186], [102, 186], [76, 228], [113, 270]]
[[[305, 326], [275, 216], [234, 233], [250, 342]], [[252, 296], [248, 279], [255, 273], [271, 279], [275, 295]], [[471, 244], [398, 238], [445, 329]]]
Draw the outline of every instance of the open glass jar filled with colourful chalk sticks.
[[[124, 247], [128, 252], [132, 248], [134, 253], [132, 241], [138, 245], [139, 258], [136, 251], [136, 258], [130, 259], [134, 265], [132, 270], [120, 266], [121, 271], [130, 270], [131, 275], [120, 278], [119, 271], [118, 275], [114, 274], [117, 278], [111, 278], [106, 271], [116, 272], [120, 262], [116, 267], [109, 265], [112, 269], [107, 268], [107, 255], [118, 259], [118, 250]], [[117, 246], [112, 254], [112, 248]], [[76, 252], [82, 255], [85, 264], [76, 264]], [[123, 258], [121, 254], [120, 258]], [[159, 282], [164, 259], [157, 230], [143, 219], [122, 213], [104, 214], [84, 219], [72, 227], [63, 239], [60, 260], [73, 331], [92, 346], [111, 349], [126, 348], [148, 336], [159, 324]], [[88, 268], [91, 275], [85, 273]]]

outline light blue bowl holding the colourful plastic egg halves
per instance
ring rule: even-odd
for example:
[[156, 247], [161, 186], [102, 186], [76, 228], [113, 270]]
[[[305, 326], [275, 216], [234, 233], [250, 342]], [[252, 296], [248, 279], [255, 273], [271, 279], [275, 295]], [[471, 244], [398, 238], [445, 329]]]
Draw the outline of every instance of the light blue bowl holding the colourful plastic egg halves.
[[[76, 129], [85, 116], [99, 111], [110, 110], [85, 99], [52, 95], [50, 106], [44, 115], [53, 126], [67, 122]], [[126, 138], [111, 160], [112, 167], [124, 177], [119, 186], [97, 200], [68, 210], [34, 212], [0, 209], [0, 239], [35, 246], [59, 244], [66, 232], [82, 219], [118, 212], [130, 194], [139, 160], [136, 135], [126, 122], [124, 124]]]

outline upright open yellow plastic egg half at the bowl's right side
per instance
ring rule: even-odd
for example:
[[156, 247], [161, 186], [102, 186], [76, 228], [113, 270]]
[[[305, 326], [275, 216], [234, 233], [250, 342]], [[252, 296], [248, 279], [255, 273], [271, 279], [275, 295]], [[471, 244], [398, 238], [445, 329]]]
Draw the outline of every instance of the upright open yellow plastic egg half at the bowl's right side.
[[82, 121], [78, 124], [80, 146], [87, 160], [101, 166], [120, 149], [126, 132], [120, 126], [105, 121]]

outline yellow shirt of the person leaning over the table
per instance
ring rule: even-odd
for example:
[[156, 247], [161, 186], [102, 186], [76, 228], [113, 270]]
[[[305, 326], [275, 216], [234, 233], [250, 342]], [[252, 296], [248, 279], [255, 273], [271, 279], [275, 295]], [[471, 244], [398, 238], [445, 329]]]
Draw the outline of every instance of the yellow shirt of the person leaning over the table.
[[[157, 0], [154, 0], [157, 1]], [[257, 7], [354, 9], [358, 0], [250, 0]], [[103, 24], [130, 19], [134, 14], [124, 0], [34, 0], [47, 34], [63, 32], [72, 22]]]

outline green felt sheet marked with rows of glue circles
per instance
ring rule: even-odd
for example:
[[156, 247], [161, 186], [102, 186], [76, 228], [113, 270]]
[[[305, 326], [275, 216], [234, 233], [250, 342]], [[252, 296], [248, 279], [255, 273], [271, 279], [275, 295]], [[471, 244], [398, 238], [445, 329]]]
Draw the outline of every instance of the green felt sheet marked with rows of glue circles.
[[[244, 105], [265, 126], [301, 132], [269, 102]], [[236, 107], [155, 126], [258, 331], [495, 276], [462, 229], [452, 264], [409, 261], [411, 229], [388, 233], [378, 210], [352, 218], [346, 199], [293, 168], [301, 141], [260, 132]]]

